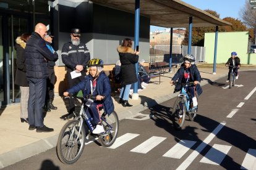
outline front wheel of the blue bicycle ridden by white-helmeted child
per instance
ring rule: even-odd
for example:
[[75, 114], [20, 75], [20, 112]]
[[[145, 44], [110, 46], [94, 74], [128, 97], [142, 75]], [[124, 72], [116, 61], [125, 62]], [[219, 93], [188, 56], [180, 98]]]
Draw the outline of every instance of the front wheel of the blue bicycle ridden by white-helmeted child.
[[176, 130], [181, 130], [185, 123], [186, 106], [184, 100], [177, 97], [173, 105], [173, 126]]

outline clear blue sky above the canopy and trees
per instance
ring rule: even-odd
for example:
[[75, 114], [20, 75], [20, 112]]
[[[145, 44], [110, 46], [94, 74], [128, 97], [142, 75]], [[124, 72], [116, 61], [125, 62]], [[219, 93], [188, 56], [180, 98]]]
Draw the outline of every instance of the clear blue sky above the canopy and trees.
[[[244, 7], [245, 1], [249, 0], [182, 0], [198, 9], [215, 10], [220, 14], [220, 18], [233, 17], [241, 19], [240, 11]], [[162, 27], [150, 26], [150, 31], [164, 30]]]

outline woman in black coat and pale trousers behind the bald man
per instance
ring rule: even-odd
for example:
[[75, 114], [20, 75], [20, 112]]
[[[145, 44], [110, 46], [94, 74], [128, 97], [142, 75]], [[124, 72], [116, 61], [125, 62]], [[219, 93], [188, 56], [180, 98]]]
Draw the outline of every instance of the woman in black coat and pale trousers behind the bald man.
[[26, 42], [30, 38], [30, 34], [24, 33], [15, 40], [15, 50], [17, 54], [17, 70], [15, 73], [15, 84], [20, 86], [20, 121], [28, 123], [28, 95], [29, 86], [26, 76], [25, 65], [25, 47]]

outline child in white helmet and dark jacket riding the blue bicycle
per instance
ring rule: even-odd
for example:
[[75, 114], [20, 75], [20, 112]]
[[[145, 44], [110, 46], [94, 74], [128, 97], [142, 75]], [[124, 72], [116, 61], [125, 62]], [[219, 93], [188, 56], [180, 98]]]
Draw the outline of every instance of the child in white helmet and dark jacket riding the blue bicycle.
[[200, 86], [201, 76], [197, 69], [197, 66], [195, 66], [195, 57], [192, 54], [187, 54], [184, 57], [184, 63], [181, 65], [181, 68], [177, 70], [177, 73], [173, 76], [173, 79], [171, 79], [171, 84], [174, 83], [174, 81], [177, 81], [177, 84], [175, 86], [174, 92], [181, 91], [181, 84], [182, 83], [188, 83], [188, 82], [194, 82], [194, 86], [189, 86], [187, 89], [187, 92], [190, 93], [190, 97], [193, 101], [193, 107], [197, 106], [197, 97], [195, 97], [195, 91], [197, 91], [197, 94], [202, 94], [203, 90]]

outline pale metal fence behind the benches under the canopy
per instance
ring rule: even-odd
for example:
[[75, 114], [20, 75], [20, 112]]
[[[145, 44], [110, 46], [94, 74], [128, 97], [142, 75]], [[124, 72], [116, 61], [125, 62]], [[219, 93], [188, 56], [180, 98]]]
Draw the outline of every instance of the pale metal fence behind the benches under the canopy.
[[[164, 61], [169, 63], [169, 45], [155, 45], [150, 49], [150, 62]], [[182, 63], [183, 56], [187, 54], [187, 46], [173, 45], [172, 63]], [[195, 62], [205, 62], [205, 47], [191, 46], [191, 54]]]

